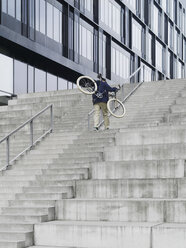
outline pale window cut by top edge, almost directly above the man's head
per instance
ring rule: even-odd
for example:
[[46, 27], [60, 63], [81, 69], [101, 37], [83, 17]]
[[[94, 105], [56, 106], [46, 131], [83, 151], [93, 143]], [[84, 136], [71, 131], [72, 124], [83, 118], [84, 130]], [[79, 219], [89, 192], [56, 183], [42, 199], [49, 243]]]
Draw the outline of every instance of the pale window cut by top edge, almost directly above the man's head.
[[100, 1], [100, 19], [111, 28], [114, 32], [120, 35], [121, 29], [121, 7], [116, 2], [111, 0]]

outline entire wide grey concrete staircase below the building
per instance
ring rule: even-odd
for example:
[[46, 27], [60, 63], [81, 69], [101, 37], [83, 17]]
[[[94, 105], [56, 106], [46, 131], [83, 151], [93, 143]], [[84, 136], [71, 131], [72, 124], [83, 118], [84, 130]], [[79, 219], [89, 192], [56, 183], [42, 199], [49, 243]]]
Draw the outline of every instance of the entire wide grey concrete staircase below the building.
[[[77, 90], [1, 107], [6, 133], [53, 102], [55, 128], [0, 177], [0, 247], [184, 248], [185, 92], [184, 80], [144, 83], [100, 132], [86, 131], [91, 99]], [[28, 130], [20, 137], [12, 153]]]

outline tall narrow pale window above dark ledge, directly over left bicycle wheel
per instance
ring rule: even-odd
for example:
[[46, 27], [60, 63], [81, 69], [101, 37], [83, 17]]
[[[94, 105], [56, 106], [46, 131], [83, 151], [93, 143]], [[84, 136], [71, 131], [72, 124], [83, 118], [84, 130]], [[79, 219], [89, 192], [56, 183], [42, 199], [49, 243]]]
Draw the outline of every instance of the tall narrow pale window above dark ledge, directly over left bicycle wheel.
[[93, 61], [93, 27], [81, 19], [80, 55]]

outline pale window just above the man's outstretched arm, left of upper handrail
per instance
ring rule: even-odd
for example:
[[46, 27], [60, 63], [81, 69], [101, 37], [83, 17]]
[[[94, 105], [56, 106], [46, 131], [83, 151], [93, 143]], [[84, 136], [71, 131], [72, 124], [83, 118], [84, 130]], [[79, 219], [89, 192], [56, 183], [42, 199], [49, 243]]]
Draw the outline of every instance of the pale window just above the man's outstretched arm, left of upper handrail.
[[123, 79], [128, 78], [130, 75], [130, 53], [112, 42], [111, 55], [112, 73]]

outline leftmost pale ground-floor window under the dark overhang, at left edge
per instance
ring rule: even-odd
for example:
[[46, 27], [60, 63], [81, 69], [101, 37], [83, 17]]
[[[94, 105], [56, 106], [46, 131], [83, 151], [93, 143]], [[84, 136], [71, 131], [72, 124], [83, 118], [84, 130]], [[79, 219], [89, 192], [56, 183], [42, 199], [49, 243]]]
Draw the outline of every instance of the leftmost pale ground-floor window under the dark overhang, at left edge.
[[13, 93], [13, 59], [3, 54], [0, 54], [0, 75], [0, 90]]

